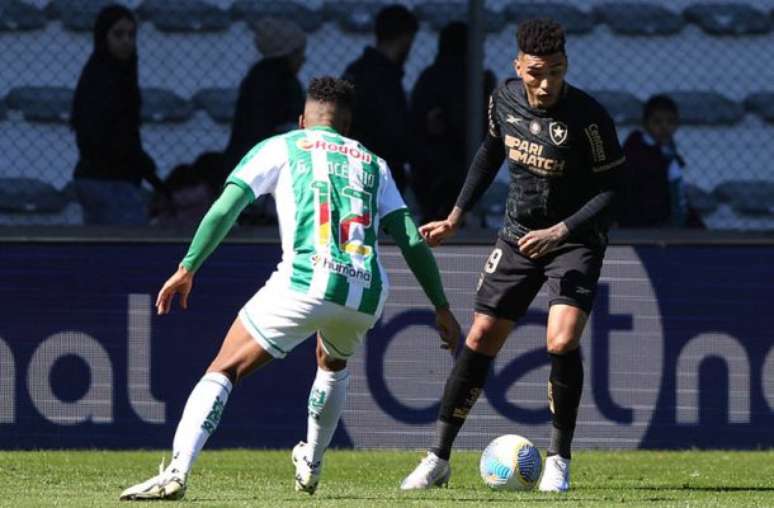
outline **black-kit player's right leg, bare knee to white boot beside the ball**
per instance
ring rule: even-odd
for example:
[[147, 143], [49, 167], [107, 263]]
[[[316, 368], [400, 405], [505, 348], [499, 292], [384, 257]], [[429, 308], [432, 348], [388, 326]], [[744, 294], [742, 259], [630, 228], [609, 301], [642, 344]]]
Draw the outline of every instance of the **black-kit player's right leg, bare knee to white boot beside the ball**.
[[[556, 310], [556, 312], [554, 312]], [[552, 413], [551, 444], [538, 488], [543, 492], [570, 489], [572, 438], [583, 393], [583, 363], [577, 342], [583, 332], [586, 314], [577, 308], [554, 309], [549, 315], [549, 407]], [[561, 317], [559, 317], [561, 316]], [[564, 330], [564, 331], [562, 331]]]

